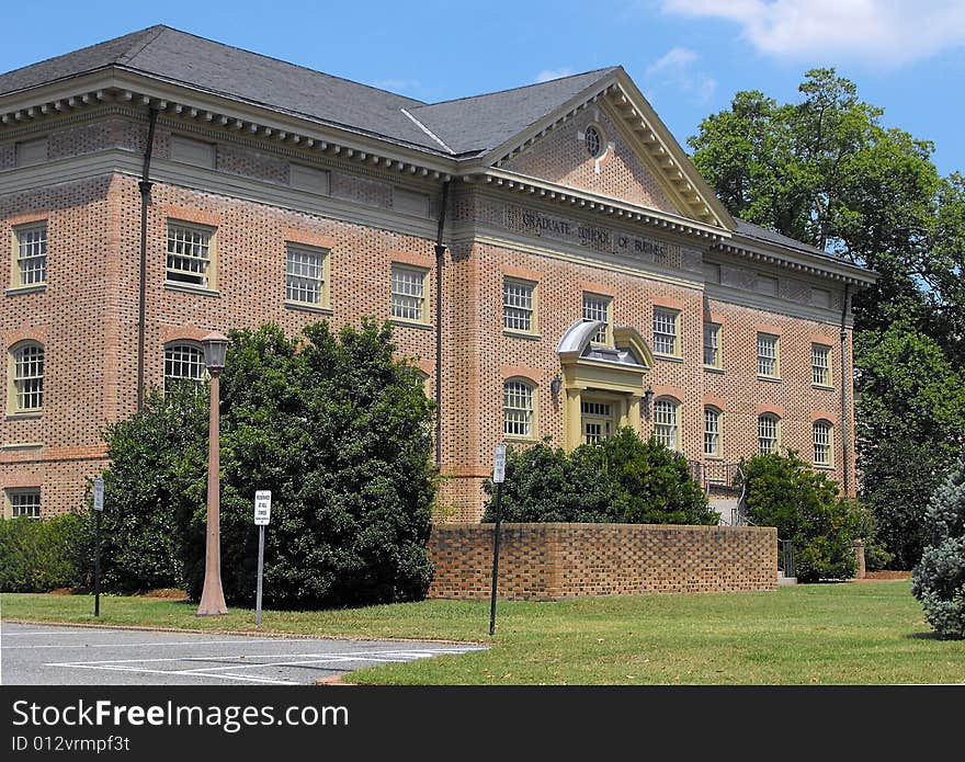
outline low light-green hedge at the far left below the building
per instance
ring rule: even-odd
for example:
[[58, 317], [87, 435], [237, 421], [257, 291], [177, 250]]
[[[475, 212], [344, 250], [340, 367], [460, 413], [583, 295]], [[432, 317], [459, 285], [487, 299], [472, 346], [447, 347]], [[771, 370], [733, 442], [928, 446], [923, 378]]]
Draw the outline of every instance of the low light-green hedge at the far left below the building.
[[0, 592], [42, 593], [77, 582], [78, 518], [0, 519]]

